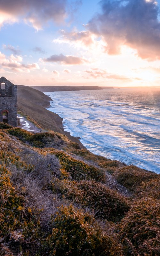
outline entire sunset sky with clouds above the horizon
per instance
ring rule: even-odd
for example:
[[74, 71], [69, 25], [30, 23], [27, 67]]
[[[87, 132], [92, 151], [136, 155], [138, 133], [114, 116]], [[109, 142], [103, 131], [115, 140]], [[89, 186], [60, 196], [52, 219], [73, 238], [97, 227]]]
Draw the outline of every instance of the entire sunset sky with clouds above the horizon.
[[0, 77], [160, 85], [160, 0], [0, 0]]

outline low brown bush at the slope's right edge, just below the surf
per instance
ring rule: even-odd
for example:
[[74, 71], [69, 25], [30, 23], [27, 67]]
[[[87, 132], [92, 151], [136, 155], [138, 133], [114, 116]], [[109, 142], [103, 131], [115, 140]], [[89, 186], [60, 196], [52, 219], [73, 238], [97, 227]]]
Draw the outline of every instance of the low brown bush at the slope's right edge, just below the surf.
[[136, 192], [142, 181], [158, 177], [154, 172], [144, 171], [134, 165], [126, 166], [113, 174], [113, 177], [131, 192]]

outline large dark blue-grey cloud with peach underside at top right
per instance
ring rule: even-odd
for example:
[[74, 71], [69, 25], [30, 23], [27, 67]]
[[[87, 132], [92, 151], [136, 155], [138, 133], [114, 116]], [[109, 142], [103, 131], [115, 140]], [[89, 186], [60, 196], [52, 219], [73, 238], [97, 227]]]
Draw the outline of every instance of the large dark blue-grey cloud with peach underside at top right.
[[122, 45], [137, 50], [142, 59], [160, 59], [159, 9], [155, 0], [102, 0], [102, 12], [87, 25], [103, 36], [106, 51], [119, 54]]

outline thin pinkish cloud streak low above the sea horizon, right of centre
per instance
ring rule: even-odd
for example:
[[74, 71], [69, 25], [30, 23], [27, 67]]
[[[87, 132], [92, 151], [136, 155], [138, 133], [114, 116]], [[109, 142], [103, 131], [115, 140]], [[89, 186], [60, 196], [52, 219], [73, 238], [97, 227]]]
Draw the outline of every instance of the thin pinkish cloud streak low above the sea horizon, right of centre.
[[[126, 76], [121, 76], [117, 74], [111, 74], [106, 69], [99, 69], [99, 68], [91, 68], [90, 70], [84, 70], [90, 77], [93, 78], [108, 78], [108, 79], [116, 79], [116, 80], [125, 80], [131, 81], [131, 78]], [[88, 79], [88, 77], [85, 77]]]

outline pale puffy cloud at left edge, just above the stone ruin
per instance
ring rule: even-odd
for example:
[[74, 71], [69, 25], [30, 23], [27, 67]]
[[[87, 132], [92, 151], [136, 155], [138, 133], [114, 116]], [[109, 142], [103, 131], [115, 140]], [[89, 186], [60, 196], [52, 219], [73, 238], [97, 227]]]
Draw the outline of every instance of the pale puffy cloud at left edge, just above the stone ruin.
[[37, 63], [32, 64], [23, 64], [23, 59], [21, 56], [11, 56], [7, 59], [6, 56], [0, 52], [0, 63], [3, 68], [12, 69], [16, 72], [30, 72], [31, 70], [39, 69], [39, 65]]

